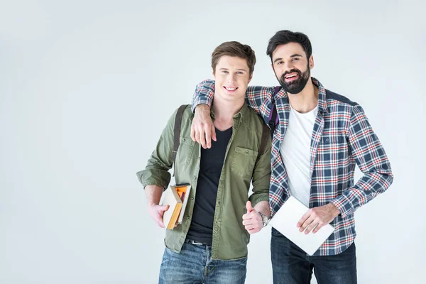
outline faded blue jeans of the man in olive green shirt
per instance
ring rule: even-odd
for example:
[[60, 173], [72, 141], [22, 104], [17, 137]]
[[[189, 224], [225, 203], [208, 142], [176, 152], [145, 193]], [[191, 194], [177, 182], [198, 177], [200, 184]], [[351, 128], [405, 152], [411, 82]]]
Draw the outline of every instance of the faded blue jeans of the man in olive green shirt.
[[212, 259], [212, 246], [184, 243], [180, 253], [165, 248], [160, 266], [160, 284], [243, 284], [247, 258], [231, 261]]

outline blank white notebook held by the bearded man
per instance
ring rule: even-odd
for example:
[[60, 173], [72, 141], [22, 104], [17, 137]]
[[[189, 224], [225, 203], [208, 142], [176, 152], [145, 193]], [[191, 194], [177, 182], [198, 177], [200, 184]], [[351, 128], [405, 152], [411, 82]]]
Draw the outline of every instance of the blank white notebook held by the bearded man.
[[312, 231], [309, 234], [300, 232], [296, 225], [307, 210], [309, 208], [305, 204], [290, 196], [278, 212], [275, 213], [269, 224], [312, 256], [332, 234], [334, 227], [327, 224], [315, 234], [312, 234]]

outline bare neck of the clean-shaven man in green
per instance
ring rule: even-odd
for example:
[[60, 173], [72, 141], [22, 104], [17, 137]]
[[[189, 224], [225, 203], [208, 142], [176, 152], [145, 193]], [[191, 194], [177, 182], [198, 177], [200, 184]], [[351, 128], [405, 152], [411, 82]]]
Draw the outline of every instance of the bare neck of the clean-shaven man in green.
[[220, 96], [213, 99], [214, 126], [220, 131], [229, 129], [234, 124], [234, 115], [244, 106], [244, 98], [239, 101], [224, 101]]

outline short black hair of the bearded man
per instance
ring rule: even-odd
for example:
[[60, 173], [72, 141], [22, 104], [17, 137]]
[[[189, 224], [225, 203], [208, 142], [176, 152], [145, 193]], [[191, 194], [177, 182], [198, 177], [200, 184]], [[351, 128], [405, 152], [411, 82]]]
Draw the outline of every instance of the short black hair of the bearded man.
[[293, 31], [283, 30], [278, 31], [273, 35], [269, 40], [268, 48], [266, 48], [266, 54], [269, 55], [272, 61], [272, 53], [278, 45], [283, 45], [287, 43], [299, 43], [302, 45], [303, 50], [305, 50], [306, 57], [309, 60], [310, 55], [312, 55], [312, 45], [309, 38], [305, 33], [294, 33]]

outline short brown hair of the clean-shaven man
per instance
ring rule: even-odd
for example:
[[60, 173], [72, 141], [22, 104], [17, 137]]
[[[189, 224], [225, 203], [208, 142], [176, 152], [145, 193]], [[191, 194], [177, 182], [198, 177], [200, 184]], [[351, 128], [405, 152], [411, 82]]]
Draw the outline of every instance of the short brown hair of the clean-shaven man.
[[213, 72], [216, 72], [216, 65], [219, 58], [224, 55], [245, 59], [249, 66], [249, 75], [251, 76], [253, 74], [254, 65], [256, 64], [256, 55], [254, 55], [254, 50], [252, 50], [249, 45], [244, 45], [238, 41], [226, 41], [217, 48], [214, 48], [212, 53]]

